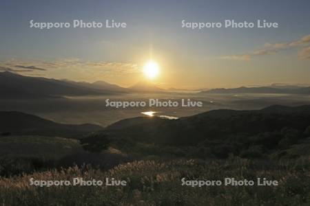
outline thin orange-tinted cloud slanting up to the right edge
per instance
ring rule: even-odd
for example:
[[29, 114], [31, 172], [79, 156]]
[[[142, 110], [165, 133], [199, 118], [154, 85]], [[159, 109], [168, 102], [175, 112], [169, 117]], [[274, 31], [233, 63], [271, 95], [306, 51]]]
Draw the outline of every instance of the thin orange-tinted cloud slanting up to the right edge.
[[310, 44], [310, 35], [303, 36], [302, 38], [291, 41], [287, 43], [265, 43], [265, 45], [261, 49], [254, 50], [254, 52], [247, 52], [245, 54], [239, 55], [231, 55], [231, 56], [224, 56], [224, 59], [231, 59], [231, 60], [251, 60], [252, 56], [264, 56], [268, 54], [276, 54], [285, 49], [293, 49], [296, 47], [306, 47], [300, 52], [298, 52], [298, 58], [300, 59], [309, 59], [307, 57], [308, 54], [308, 45]]

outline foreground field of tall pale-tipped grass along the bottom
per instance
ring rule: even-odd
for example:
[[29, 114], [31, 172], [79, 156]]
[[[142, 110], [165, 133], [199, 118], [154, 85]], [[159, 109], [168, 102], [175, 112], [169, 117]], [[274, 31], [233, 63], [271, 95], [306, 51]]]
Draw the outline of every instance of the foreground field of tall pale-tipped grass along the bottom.
[[[309, 205], [310, 161], [134, 161], [112, 170], [86, 166], [0, 179], [1, 205]], [[103, 180], [114, 177], [127, 186], [30, 186], [37, 180]], [[223, 180], [225, 177], [279, 181], [278, 186], [181, 185], [180, 179]]]

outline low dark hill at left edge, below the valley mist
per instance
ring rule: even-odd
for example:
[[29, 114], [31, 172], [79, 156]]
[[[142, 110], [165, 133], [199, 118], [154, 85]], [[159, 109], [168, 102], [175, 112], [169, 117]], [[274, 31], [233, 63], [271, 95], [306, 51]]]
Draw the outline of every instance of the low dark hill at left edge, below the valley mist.
[[0, 111], [0, 135], [45, 135], [79, 139], [102, 129], [94, 124], [59, 124], [17, 111]]

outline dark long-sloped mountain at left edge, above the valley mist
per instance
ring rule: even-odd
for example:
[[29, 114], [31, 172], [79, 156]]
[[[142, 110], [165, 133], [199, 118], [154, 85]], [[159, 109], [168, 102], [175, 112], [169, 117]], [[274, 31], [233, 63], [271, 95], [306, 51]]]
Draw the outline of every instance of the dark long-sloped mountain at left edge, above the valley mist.
[[68, 81], [21, 76], [8, 71], [0, 73], [1, 98], [47, 98], [64, 95], [105, 95], [112, 93], [116, 93], [116, 91], [85, 87], [83, 84]]

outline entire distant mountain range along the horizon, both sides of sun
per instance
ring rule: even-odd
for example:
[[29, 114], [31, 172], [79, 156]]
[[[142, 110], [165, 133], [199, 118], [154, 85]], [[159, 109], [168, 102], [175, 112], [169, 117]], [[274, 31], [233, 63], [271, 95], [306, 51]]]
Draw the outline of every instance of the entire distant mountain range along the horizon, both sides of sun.
[[[177, 89], [161, 89], [153, 82], [141, 81], [124, 88], [105, 81], [74, 82], [71, 80], [55, 80], [50, 78], [21, 76], [4, 71], [0, 73], [1, 98], [55, 98], [81, 95], [116, 95], [123, 93], [165, 93]], [[218, 88], [200, 93], [282, 93], [310, 94], [310, 87], [285, 84], [271, 84], [269, 87]]]

